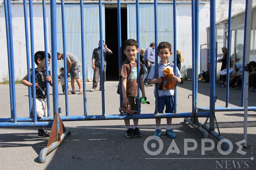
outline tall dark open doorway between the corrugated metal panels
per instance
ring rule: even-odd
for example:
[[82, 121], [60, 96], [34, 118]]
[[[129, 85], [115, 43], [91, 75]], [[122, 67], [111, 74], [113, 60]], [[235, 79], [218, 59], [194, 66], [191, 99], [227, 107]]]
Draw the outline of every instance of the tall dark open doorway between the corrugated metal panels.
[[[117, 9], [105, 8], [105, 43], [113, 54], [107, 56], [106, 81], [119, 80]], [[121, 9], [121, 42], [127, 40], [127, 9]], [[122, 55], [123, 56], [123, 55]]]

